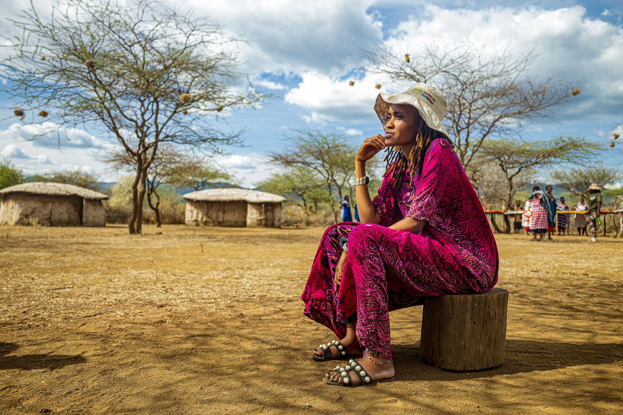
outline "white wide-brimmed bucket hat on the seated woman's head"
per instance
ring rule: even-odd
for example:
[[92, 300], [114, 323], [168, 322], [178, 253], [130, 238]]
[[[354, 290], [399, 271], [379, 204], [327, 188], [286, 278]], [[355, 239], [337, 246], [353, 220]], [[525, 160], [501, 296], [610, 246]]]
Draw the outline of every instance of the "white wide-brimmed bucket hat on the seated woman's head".
[[409, 89], [397, 94], [379, 93], [374, 103], [374, 111], [381, 120], [383, 128], [388, 123], [389, 104], [409, 104], [417, 108], [426, 125], [448, 136], [444, 124], [445, 110], [448, 105], [441, 91], [423, 82], [409, 86]]

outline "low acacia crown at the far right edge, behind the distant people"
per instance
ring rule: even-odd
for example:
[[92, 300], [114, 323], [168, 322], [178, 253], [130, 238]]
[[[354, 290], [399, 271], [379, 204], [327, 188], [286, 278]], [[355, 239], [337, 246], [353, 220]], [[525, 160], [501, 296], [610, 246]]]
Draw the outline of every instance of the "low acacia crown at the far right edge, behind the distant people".
[[575, 167], [572, 169], [558, 169], [551, 173], [551, 180], [576, 196], [588, 197], [588, 188], [592, 183], [600, 187], [616, 183], [623, 175], [616, 167], [596, 166]]

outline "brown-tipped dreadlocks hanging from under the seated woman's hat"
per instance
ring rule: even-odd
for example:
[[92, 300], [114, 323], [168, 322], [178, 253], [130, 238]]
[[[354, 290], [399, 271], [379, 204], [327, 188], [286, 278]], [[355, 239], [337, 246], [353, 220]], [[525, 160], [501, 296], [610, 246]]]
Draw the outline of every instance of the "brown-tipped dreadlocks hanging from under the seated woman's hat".
[[413, 177], [422, 169], [424, 156], [426, 156], [426, 151], [430, 143], [437, 138], [448, 139], [444, 133], [430, 128], [426, 124], [426, 121], [422, 120], [420, 129], [416, 134], [416, 145], [413, 146], [408, 159], [402, 154], [402, 149], [400, 149], [400, 151], [393, 151], [393, 147], [386, 148], [385, 151], [388, 154], [385, 156], [384, 160], [387, 162], [387, 167], [383, 177], [389, 176], [389, 178], [394, 180], [394, 189], [399, 189], [401, 187], [402, 177], [404, 177], [404, 172], [406, 172], [407, 167], [409, 167], [409, 176], [411, 177], [410, 184], [413, 185]]

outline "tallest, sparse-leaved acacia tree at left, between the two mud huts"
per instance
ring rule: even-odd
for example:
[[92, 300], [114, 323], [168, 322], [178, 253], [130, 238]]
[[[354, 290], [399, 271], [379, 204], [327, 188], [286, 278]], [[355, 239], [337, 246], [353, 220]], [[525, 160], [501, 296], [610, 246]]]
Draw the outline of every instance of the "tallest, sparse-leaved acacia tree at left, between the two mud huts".
[[12, 22], [22, 35], [4, 39], [12, 55], [2, 63], [2, 90], [33, 122], [42, 110], [59, 134], [82, 127], [118, 141], [134, 162], [130, 233], [141, 232], [147, 172], [159, 146], [219, 151], [240, 144], [243, 131], [216, 128], [216, 114], [265, 97], [236, 91], [243, 74], [231, 47], [239, 39], [157, 1], [68, 0], [50, 19], [31, 3]]

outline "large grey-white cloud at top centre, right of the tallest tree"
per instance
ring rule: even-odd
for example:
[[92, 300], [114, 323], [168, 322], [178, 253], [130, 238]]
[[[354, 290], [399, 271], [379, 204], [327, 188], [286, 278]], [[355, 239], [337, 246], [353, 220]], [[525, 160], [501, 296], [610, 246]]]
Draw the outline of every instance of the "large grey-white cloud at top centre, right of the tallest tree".
[[338, 76], [361, 62], [370, 40], [383, 41], [381, 24], [366, 9], [373, 0], [194, 0], [196, 16], [209, 16], [244, 36], [241, 61], [254, 73]]

